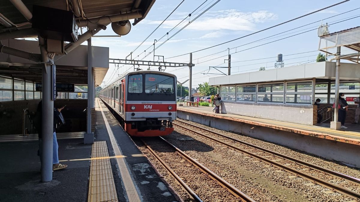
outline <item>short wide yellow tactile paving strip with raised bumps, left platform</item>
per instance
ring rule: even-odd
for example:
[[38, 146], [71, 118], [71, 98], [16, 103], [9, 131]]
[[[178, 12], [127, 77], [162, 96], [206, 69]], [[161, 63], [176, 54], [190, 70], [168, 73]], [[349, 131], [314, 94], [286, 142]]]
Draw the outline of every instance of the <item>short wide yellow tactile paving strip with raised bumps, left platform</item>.
[[118, 201], [106, 141], [94, 142], [91, 150], [87, 201]]

